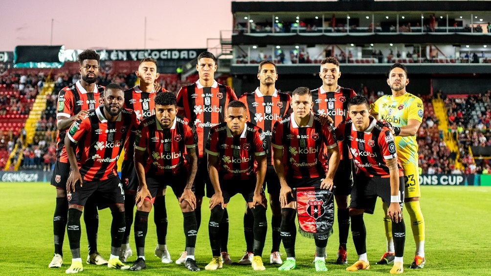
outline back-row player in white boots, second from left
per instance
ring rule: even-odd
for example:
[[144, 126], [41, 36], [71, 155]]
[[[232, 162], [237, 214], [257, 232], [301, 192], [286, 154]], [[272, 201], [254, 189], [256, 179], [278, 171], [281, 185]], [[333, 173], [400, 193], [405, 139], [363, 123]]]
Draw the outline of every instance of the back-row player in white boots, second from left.
[[[139, 79], [139, 85], [128, 89], [124, 92], [124, 108], [134, 110], [138, 120], [146, 119], [155, 114], [154, 98], [159, 87], [155, 86], [155, 80], [159, 78], [157, 73], [157, 61], [151, 57], [142, 59], [138, 65], [138, 71], [135, 72]], [[165, 91], [165, 89], [162, 89]], [[130, 133], [130, 138], [125, 145], [124, 160], [121, 168], [121, 180], [125, 188], [125, 220], [126, 230], [121, 245], [119, 259], [126, 262], [132, 254], [129, 240], [131, 225], [133, 223], [133, 209], [135, 207], [136, 189], [138, 188], [138, 178], [133, 162], [135, 134]], [[154, 221], [157, 227], [157, 248], [155, 254], [162, 259], [163, 263], [171, 263], [169, 252], [165, 245], [165, 236], [167, 235], [167, 212], [165, 210], [165, 195], [159, 191], [159, 196], [155, 198], [154, 203]]]

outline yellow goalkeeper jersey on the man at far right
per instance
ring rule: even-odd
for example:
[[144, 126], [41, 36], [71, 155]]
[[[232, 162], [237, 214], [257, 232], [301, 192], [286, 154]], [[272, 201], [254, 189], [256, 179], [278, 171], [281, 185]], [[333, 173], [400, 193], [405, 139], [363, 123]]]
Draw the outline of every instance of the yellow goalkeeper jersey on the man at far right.
[[[399, 97], [384, 95], [370, 105], [372, 113], [379, 114], [379, 120], [385, 120], [393, 126], [406, 126], [409, 119], [423, 120], [423, 101], [406, 93]], [[397, 156], [401, 165], [418, 164], [418, 143], [414, 136], [395, 137]]]

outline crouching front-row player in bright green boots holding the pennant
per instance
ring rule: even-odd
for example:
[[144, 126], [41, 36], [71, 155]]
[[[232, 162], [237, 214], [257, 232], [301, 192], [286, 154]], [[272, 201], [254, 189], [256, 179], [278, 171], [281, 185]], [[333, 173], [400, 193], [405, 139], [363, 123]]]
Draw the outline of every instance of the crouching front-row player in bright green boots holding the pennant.
[[[286, 261], [278, 270], [292, 270], [297, 267], [295, 259], [295, 216], [297, 210], [292, 188], [320, 187], [331, 190], [334, 174], [339, 164], [339, 149], [328, 125], [319, 122], [319, 116], [312, 113], [312, 94], [307, 87], [299, 87], [292, 94], [293, 113], [273, 127], [274, 169], [281, 184], [281, 238], [286, 251]], [[328, 172], [326, 164], [319, 160], [324, 148], [330, 154]], [[314, 236], [316, 271], [327, 271], [327, 235]]]

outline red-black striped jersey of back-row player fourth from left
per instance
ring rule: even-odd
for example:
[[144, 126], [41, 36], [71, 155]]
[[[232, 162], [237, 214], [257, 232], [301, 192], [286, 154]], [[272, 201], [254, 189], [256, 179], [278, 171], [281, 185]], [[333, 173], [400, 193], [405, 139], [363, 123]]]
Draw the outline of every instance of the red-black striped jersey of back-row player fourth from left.
[[[274, 123], [291, 112], [290, 94], [275, 89], [273, 95], [263, 95], [259, 88], [256, 88], [254, 92], [243, 94], [239, 100], [246, 104], [249, 122], [259, 126], [266, 135], [268, 143], [271, 143]], [[266, 161], [268, 165], [273, 165], [271, 149], [268, 151]]]

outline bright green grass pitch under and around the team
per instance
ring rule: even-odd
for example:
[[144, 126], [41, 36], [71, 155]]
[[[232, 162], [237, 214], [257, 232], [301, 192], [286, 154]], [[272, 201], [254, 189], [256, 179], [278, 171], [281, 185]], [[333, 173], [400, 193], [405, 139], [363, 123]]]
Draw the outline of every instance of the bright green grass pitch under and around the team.
[[[414, 241], [406, 220], [406, 250], [404, 254], [405, 275], [491, 275], [491, 242], [488, 236], [491, 219], [491, 187], [465, 186], [423, 186], [421, 207], [426, 221], [426, 258], [427, 264], [422, 270], [411, 270], [409, 264], [414, 257]], [[48, 183], [0, 183], [0, 275], [63, 275], [70, 266], [71, 254], [68, 238], [65, 234], [63, 247], [64, 264], [60, 269], [48, 268], [53, 256], [53, 211], [55, 206], [55, 188]], [[147, 269], [140, 272], [114, 271], [107, 266], [85, 264], [87, 243], [85, 226], [82, 219], [81, 253], [83, 269], [81, 275], [312, 275], [315, 272], [311, 263], [315, 252], [314, 241], [297, 235], [297, 269], [293, 272], [281, 272], [278, 265], [269, 264], [271, 250], [271, 224], [268, 221], [268, 235], [263, 254], [266, 271], [254, 272], [250, 265], [224, 265], [222, 269], [209, 272], [205, 265], [211, 260], [208, 239], [209, 210], [208, 201], [203, 203], [203, 220], [197, 237], [196, 260], [202, 269], [200, 272], [188, 272], [184, 266], [162, 264], [154, 256], [157, 243], [153, 212], [149, 217], [149, 229], [146, 238]], [[385, 237], [382, 226], [382, 207], [377, 203], [374, 215], [365, 214], [367, 228], [367, 253], [371, 263], [369, 271], [347, 272], [346, 266], [334, 264], [338, 247], [337, 222], [334, 234], [327, 245], [327, 274], [329, 275], [389, 275], [391, 265], [376, 265], [385, 250]], [[182, 215], [172, 191], [167, 191], [168, 235], [167, 248], [172, 260], [179, 257], [185, 247], [182, 228]], [[230, 217], [230, 235], [228, 252], [237, 262], [246, 248], [243, 234], [244, 200], [240, 195], [232, 198], [228, 205]], [[271, 214], [268, 210], [268, 220]], [[110, 250], [109, 209], [99, 212], [99, 252], [109, 258]], [[130, 244], [134, 255], [128, 264], [136, 259], [133, 237]], [[281, 246], [284, 253], [283, 246]], [[286, 256], [283, 254], [282, 259]], [[353, 264], [356, 251], [351, 237], [348, 238], [348, 261]]]

